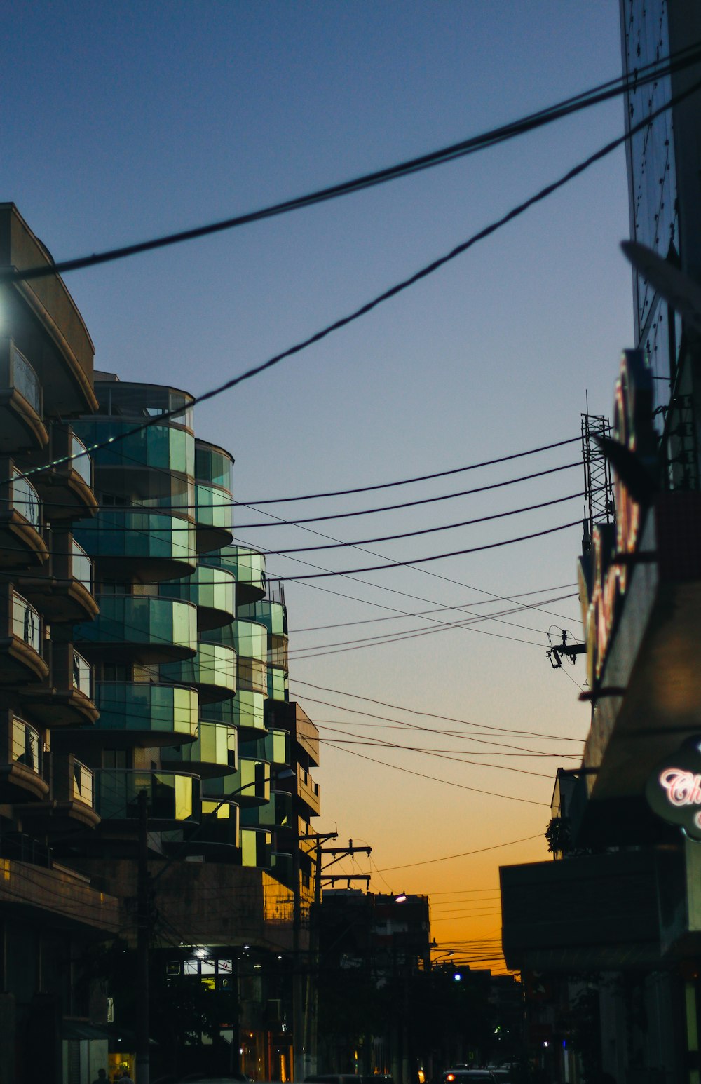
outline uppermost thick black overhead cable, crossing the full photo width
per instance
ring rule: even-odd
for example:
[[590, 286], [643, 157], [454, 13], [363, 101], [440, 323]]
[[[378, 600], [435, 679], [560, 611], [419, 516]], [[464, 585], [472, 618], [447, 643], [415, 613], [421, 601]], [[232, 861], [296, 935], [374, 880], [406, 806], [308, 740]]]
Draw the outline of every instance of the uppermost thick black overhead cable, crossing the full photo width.
[[670, 56], [662, 61], [655, 61], [649, 65], [640, 67], [634, 73], [633, 78], [629, 78], [626, 74], [618, 76], [615, 79], [611, 79], [608, 82], [600, 83], [598, 87], [592, 88], [590, 90], [581, 92], [580, 94], [573, 95], [569, 99], [564, 99], [556, 105], [532, 113], [520, 118], [519, 120], [511, 121], [498, 128], [493, 128], [480, 136], [473, 136], [470, 139], [462, 140], [459, 143], [450, 144], [449, 146], [420, 155], [419, 157], [410, 158], [394, 166], [389, 166], [372, 173], [364, 173], [349, 181], [343, 181], [339, 184], [320, 189], [315, 192], [297, 196], [293, 199], [285, 199], [282, 203], [272, 204], [256, 211], [249, 211], [233, 218], [209, 222], [205, 225], [195, 227], [190, 230], [181, 230], [177, 233], [167, 234], [161, 237], [155, 237], [131, 245], [122, 245], [118, 248], [107, 249], [102, 253], [94, 253], [90, 256], [63, 260], [59, 263], [52, 263], [50, 267], [43, 264], [41, 267], [27, 268], [22, 271], [16, 271], [14, 269], [3, 271], [0, 272], [0, 282], [26, 282], [31, 279], [41, 279], [51, 274], [63, 274], [69, 271], [80, 270], [81, 268], [95, 267], [100, 263], [113, 262], [128, 256], [137, 256], [141, 253], [153, 251], [170, 245], [181, 244], [186, 241], [194, 241], [199, 237], [210, 236], [215, 233], [233, 230], [237, 227], [273, 218], [278, 215], [288, 214], [289, 211], [299, 210], [302, 207], [310, 207], [313, 204], [324, 203], [329, 199], [338, 198], [339, 196], [349, 195], [352, 192], [360, 192], [364, 189], [374, 188], [387, 181], [395, 180], [400, 177], [407, 177], [412, 173], [419, 172], [433, 166], [442, 165], [446, 162], [454, 162], [457, 158], [464, 157], [468, 154], [473, 154], [475, 152], [484, 150], [489, 146], [495, 146], [496, 144], [512, 139], [516, 136], [533, 131], [544, 125], [551, 124], [554, 120], [559, 120], [562, 117], [570, 116], [572, 113], [588, 108], [592, 105], [600, 104], [601, 102], [606, 102], [612, 98], [616, 98], [634, 88], [645, 86], [647, 82], [662, 78], [664, 75], [671, 74], [672, 72], [681, 70], [697, 63], [699, 59], [701, 59], [701, 53], [699, 53], [698, 44], [694, 44], [685, 50], [680, 50], [677, 53], [670, 54]]

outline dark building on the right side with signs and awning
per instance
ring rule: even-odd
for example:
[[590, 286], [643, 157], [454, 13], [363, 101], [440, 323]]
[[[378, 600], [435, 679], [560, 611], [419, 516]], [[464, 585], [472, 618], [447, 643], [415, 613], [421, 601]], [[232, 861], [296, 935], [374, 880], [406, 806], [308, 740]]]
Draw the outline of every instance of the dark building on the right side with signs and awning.
[[[688, 92], [701, 68], [647, 87], [635, 73], [696, 46], [700, 16], [686, 0], [621, 3], [626, 122], [673, 103], [627, 146], [631, 235], [693, 282], [701, 95]], [[688, 744], [698, 757], [701, 349], [638, 272], [634, 314], [613, 408], [615, 521], [593, 525], [580, 562], [589, 733], [581, 767], [556, 779], [556, 861], [502, 868], [503, 943], [531, 991], [531, 1055], [551, 1076], [697, 1084], [701, 853]]]

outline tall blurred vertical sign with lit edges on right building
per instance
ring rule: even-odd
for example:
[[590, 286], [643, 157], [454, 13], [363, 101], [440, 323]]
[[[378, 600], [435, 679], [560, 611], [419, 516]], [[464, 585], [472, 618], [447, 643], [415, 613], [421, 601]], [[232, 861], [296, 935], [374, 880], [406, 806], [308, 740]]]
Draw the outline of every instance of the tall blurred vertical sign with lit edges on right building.
[[[626, 350], [615, 386], [613, 439], [644, 465], [657, 463], [657, 434], [652, 426], [652, 376], [641, 350]], [[583, 592], [587, 670], [590, 688], [600, 680], [622, 609], [631, 571], [621, 560], [636, 552], [642, 511], [614, 470], [615, 526], [594, 528], [592, 581]]]

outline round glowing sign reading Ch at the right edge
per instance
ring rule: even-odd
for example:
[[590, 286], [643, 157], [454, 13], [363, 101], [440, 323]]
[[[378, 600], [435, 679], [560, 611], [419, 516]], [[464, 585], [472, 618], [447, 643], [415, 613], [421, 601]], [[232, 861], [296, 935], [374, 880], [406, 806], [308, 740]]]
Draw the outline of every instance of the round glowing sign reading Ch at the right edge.
[[653, 813], [701, 841], [701, 735], [655, 767], [645, 795]]

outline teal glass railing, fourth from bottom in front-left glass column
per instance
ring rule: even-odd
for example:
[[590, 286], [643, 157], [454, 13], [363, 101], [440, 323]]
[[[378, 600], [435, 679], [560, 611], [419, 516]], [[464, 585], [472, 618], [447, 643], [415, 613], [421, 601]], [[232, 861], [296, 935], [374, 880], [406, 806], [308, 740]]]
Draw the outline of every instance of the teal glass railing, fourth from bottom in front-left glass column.
[[178, 516], [103, 508], [89, 524], [76, 524], [75, 534], [93, 557], [178, 560], [195, 567], [195, 525]]

